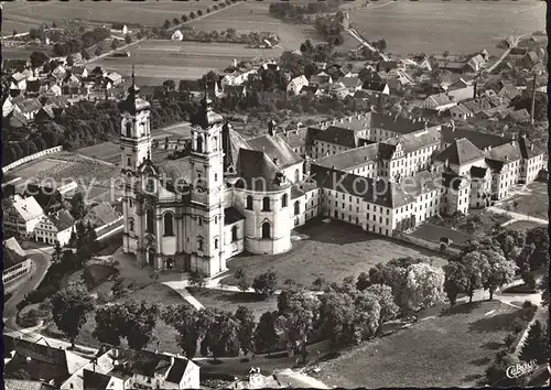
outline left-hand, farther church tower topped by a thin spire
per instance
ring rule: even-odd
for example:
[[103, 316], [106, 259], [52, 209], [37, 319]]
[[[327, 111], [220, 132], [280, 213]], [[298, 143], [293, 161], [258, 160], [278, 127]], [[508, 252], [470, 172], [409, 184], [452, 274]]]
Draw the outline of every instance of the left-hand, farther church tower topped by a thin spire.
[[132, 85], [128, 88], [126, 100], [119, 104], [122, 113], [120, 149], [122, 152], [121, 173], [125, 177], [122, 195], [123, 212], [123, 251], [137, 253], [140, 247], [140, 218], [137, 213], [137, 193], [139, 192], [138, 167], [151, 156], [150, 105], [140, 98], [140, 88], [136, 85], [132, 66]]

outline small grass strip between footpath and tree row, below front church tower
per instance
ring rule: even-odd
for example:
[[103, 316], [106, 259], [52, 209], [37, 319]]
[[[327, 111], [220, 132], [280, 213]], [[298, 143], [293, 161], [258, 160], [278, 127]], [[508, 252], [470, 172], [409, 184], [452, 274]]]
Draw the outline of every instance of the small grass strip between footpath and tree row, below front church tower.
[[205, 307], [226, 310], [235, 313], [240, 305], [250, 307], [257, 321], [260, 316], [270, 311], [278, 310], [277, 296], [267, 300], [260, 299], [255, 293], [229, 292], [213, 289], [187, 289], [190, 293]]

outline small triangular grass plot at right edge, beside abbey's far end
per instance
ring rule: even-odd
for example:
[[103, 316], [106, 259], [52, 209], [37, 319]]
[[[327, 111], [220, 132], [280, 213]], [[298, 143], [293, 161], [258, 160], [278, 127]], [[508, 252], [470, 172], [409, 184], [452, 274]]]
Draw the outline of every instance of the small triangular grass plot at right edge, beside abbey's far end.
[[[514, 202], [517, 202], [515, 208]], [[519, 189], [507, 201], [496, 205], [499, 208], [509, 209], [514, 213], [526, 214], [530, 217], [548, 219], [549, 195], [548, 184], [544, 182], [533, 182], [525, 188]]]

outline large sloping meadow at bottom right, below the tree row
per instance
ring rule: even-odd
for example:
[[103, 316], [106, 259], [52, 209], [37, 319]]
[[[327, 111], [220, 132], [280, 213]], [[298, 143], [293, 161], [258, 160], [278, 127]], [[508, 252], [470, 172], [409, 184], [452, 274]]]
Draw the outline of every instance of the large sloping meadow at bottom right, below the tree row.
[[477, 387], [519, 315], [497, 301], [462, 304], [322, 364], [320, 379], [344, 388]]

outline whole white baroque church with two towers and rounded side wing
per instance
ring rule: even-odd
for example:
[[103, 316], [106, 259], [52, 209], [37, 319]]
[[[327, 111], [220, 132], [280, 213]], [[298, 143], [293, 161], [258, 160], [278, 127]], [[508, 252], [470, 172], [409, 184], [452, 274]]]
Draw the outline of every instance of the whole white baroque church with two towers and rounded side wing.
[[302, 183], [303, 160], [272, 131], [246, 141], [206, 96], [201, 105], [191, 153], [154, 162], [150, 106], [134, 83], [120, 102], [123, 251], [142, 267], [213, 277], [244, 250], [288, 251], [291, 230], [317, 215], [320, 199], [317, 186]]

